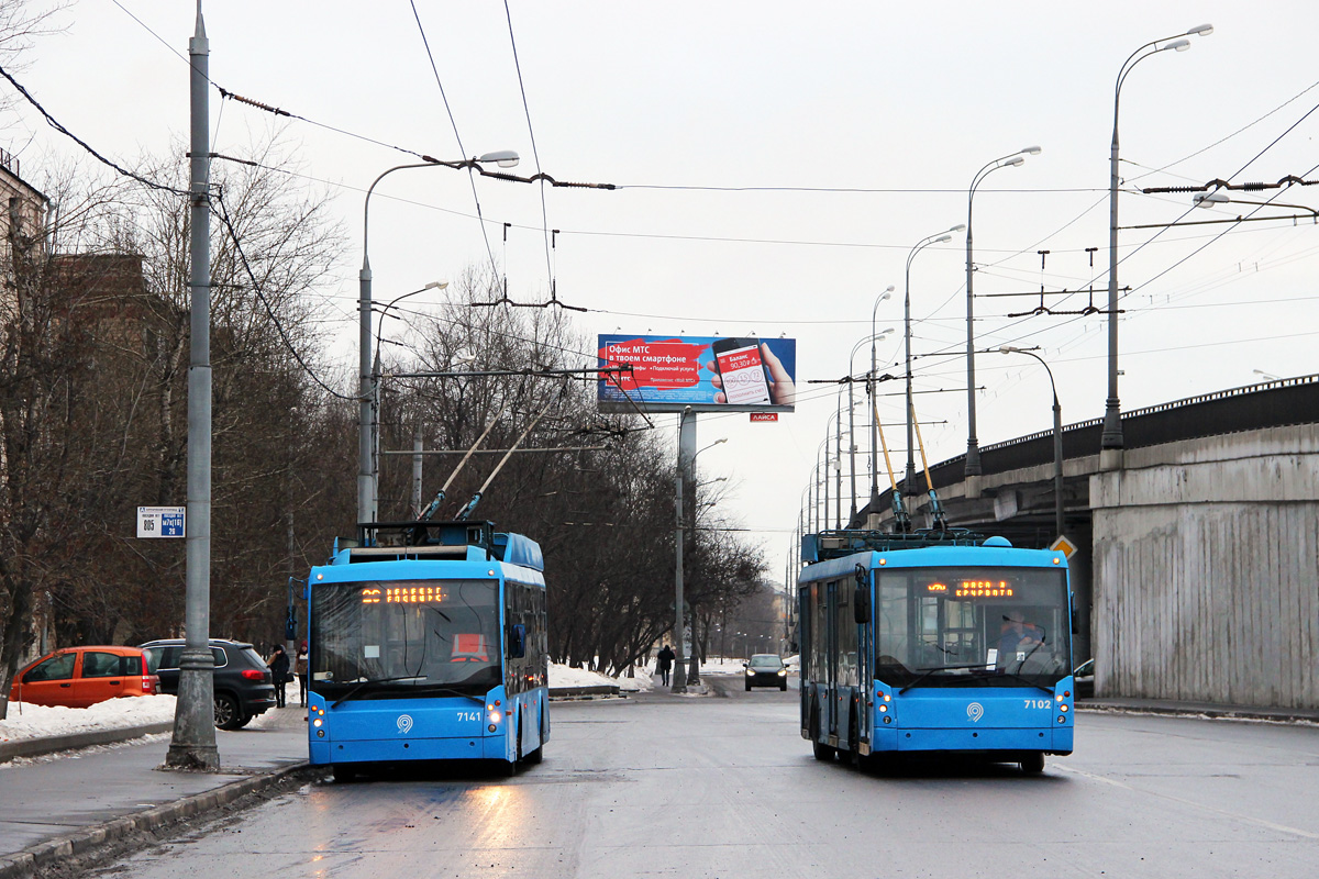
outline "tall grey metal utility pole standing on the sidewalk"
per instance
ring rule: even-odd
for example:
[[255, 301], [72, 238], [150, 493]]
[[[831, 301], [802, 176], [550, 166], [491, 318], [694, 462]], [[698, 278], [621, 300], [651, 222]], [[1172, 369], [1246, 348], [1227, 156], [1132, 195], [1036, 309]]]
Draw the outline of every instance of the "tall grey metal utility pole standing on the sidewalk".
[[187, 45], [190, 58], [191, 202], [189, 286], [191, 287], [191, 358], [187, 370], [187, 538], [186, 626], [179, 659], [174, 738], [166, 768], [215, 772], [215, 658], [211, 655], [211, 175], [210, 42], [197, 0], [197, 28]]

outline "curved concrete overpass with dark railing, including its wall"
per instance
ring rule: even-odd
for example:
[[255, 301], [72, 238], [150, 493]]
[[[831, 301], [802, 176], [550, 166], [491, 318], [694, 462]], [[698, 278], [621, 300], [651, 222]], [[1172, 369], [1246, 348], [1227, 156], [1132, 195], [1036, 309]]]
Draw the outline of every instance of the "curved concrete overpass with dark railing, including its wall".
[[[1063, 428], [1076, 656], [1096, 695], [1319, 708], [1319, 376]], [[950, 525], [1054, 539], [1053, 431], [930, 468]], [[926, 526], [925, 477], [907, 509]], [[898, 490], [905, 490], [900, 484]], [[892, 493], [853, 527], [888, 528]]]

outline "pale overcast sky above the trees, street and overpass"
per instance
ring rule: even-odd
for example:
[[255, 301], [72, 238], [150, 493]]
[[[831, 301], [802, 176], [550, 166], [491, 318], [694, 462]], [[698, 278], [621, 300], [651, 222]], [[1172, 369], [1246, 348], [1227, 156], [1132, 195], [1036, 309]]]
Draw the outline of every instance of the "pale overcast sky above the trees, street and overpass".
[[[757, 532], [778, 579], [838, 405], [838, 386], [806, 382], [845, 376], [857, 343], [853, 369], [864, 372], [872, 306], [889, 285], [897, 290], [878, 306], [878, 327], [894, 333], [881, 343], [880, 366], [902, 370], [911, 248], [966, 223], [976, 171], [1025, 146], [1043, 152], [995, 171], [975, 199], [977, 348], [1039, 345], [1064, 422], [1103, 414], [1104, 316], [1008, 318], [1038, 299], [979, 297], [1107, 285], [1113, 84], [1141, 43], [1215, 26], [1191, 37], [1188, 51], [1142, 61], [1122, 88], [1121, 225], [1254, 210], [1186, 215], [1190, 195], [1142, 187], [1319, 179], [1319, 112], [1306, 117], [1319, 104], [1314, 5], [1299, 0], [510, 0], [508, 14], [501, 3], [415, 0], [439, 83], [413, 9], [406, 0], [203, 8], [212, 80], [315, 123], [285, 121], [282, 137], [301, 173], [326, 182], [351, 236], [336, 279], [315, 294], [346, 372], [357, 357], [363, 192], [386, 167], [412, 161], [392, 148], [442, 158], [513, 149], [520, 173], [534, 173], [538, 158], [559, 179], [619, 184], [547, 188], [542, 219], [539, 188], [479, 181], [487, 250], [466, 174], [396, 174], [379, 191], [397, 198], [372, 202], [377, 298], [454, 278], [492, 253], [516, 300], [543, 300], [553, 275], [561, 300], [590, 310], [574, 320], [591, 337], [797, 339], [794, 414], [777, 424], [702, 415], [698, 428], [702, 447], [728, 438], [700, 456], [700, 478], [728, 477], [720, 513]], [[63, 32], [37, 42], [20, 80], [106, 156], [164, 154], [187, 132], [179, 55], [194, 13], [185, 0], [75, 0], [61, 13]], [[79, 154], [30, 108], [17, 112], [0, 146], [21, 156], [25, 177]], [[278, 125], [215, 92], [211, 115], [214, 148], [227, 154]], [[1233, 195], [1319, 207], [1319, 191], [1304, 187]], [[1257, 216], [1298, 212], [1310, 210]], [[546, 219], [561, 229], [549, 256]], [[504, 223], [513, 224], [506, 245]], [[1261, 380], [1256, 370], [1316, 372], [1312, 221], [1133, 229], [1120, 241], [1120, 281], [1132, 287], [1121, 320], [1124, 410], [1248, 385]], [[1097, 248], [1093, 268], [1087, 248]], [[1049, 250], [1043, 269], [1038, 250]], [[917, 397], [933, 464], [967, 445], [964, 232], [921, 252], [910, 298], [915, 386], [944, 391]], [[1087, 302], [1046, 299], [1072, 311]], [[1095, 304], [1104, 306], [1103, 294]], [[985, 353], [976, 372], [981, 445], [1049, 428], [1047, 378], [1034, 360]], [[881, 415], [900, 422], [901, 399], [882, 398]], [[863, 409], [856, 418], [865, 468]], [[654, 420], [671, 439], [677, 418]], [[900, 457], [902, 435], [889, 432]], [[859, 482], [865, 496], [868, 469]]]

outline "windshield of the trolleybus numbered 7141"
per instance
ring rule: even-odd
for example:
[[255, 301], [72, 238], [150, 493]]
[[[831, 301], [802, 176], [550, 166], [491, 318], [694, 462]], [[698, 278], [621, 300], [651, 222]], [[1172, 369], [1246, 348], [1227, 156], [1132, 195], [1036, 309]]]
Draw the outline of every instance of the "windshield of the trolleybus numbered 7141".
[[499, 584], [317, 584], [310, 685], [326, 698], [484, 697], [501, 683]]

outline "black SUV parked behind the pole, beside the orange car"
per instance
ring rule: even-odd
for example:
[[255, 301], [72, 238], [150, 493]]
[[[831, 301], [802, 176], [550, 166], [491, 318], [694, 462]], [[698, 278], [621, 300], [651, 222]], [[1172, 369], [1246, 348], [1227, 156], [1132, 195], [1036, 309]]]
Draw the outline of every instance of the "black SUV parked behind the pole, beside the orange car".
[[[149, 640], [140, 647], [146, 652], [149, 667], [161, 679], [161, 692], [177, 696], [178, 660], [183, 654], [183, 639]], [[212, 638], [211, 652], [215, 655], [216, 726], [222, 730], [236, 730], [274, 706], [270, 668], [252, 644]]]

